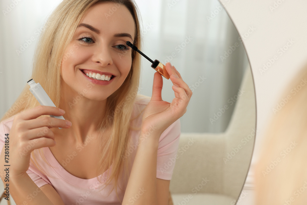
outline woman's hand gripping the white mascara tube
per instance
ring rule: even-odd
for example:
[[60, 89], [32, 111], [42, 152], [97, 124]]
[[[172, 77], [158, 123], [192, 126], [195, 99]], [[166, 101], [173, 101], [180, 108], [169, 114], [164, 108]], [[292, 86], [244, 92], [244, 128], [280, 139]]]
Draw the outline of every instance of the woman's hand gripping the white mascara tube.
[[59, 108], [40, 105], [14, 117], [9, 134], [11, 174], [20, 176], [26, 173], [30, 166], [30, 154], [34, 149], [55, 145], [54, 133], [50, 128], [70, 127], [66, 125], [68, 120], [47, 116], [37, 117], [41, 115], [61, 116], [63, 114]]

